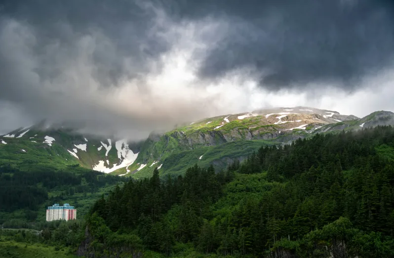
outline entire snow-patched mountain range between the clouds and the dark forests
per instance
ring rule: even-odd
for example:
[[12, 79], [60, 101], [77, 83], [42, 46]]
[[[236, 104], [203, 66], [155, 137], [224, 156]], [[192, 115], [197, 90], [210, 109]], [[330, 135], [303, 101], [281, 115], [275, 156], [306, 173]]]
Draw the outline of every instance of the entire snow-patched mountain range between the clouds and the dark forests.
[[374, 112], [364, 118], [332, 110], [284, 107], [205, 118], [162, 134], [151, 133], [140, 143], [80, 135], [45, 123], [0, 136], [0, 162], [22, 170], [35, 165], [61, 168], [79, 164], [100, 172], [134, 178], [180, 174], [194, 164], [224, 169], [264, 145], [291, 143], [316, 133], [394, 125], [394, 113]]

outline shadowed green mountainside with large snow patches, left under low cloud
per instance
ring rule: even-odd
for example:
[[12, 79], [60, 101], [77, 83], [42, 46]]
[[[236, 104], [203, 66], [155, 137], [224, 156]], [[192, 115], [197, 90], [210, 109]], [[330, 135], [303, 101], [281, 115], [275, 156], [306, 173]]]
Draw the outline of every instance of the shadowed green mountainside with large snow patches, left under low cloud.
[[0, 163], [14, 164], [25, 171], [36, 165], [61, 169], [79, 164], [108, 173], [132, 164], [139, 146], [126, 140], [98, 139], [71, 129], [37, 125], [0, 136]]

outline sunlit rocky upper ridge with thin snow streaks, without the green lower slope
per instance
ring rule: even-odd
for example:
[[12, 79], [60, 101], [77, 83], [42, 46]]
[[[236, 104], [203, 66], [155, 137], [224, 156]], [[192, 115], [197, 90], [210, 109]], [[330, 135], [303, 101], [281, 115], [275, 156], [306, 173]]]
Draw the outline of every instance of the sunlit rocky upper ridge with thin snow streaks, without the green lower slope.
[[[204, 119], [186, 126], [186, 130], [174, 130], [169, 136], [190, 149], [235, 140], [273, 140], [279, 136], [283, 136], [283, 142], [287, 143], [306, 137], [308, 133], [324, 125], [354, 119], [358, 118], [309, 107], [263, 109]], [[213, 126], [211, 123], [215, 120], [216, 125]], [[303, 130], [304, 134], [300, 133], [300, 130]], [[296, 131], [297, 133], [294, 133]], [[154, 139], [154, 136], [150, 138]]]

